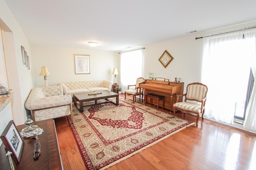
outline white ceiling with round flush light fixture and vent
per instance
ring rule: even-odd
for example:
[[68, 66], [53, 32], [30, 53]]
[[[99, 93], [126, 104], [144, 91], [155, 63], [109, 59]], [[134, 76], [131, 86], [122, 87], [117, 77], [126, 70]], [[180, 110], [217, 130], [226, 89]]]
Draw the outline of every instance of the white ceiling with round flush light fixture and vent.
[[256, 20], [256, 0], [5, 0], [31, 44], [122, 51]]

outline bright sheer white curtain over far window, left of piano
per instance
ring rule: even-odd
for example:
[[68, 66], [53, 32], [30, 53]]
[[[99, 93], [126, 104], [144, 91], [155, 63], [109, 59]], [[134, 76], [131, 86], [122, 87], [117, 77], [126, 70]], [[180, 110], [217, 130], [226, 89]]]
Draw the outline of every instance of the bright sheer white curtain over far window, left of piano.
[[136, 84], [136, 79], [142, 77], [143, 49], [121, 53], [120, 55], [120, 80], [122, 92], [128, 85]]

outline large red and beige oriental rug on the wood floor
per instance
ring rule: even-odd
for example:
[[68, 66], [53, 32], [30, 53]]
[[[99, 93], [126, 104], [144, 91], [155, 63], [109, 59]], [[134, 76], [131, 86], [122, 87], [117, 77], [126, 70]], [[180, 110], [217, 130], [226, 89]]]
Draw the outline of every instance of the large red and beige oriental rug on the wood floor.
[[[115, 98], [113, 99], [115, 100]], [[119, 97], [112, 102], [73, 106], [68, 121], [87, 170], [104, 170], [194, 124]]]

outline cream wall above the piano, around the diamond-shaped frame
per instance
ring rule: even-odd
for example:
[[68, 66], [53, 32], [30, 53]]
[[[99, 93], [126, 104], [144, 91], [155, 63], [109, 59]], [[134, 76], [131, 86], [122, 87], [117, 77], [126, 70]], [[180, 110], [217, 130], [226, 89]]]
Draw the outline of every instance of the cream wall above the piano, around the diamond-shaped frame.
[[[201, 80], [203, 39], [196, 40], [195, 37], [213, 35], [220, 32], [233, 31], [235, 29], [243, 29], [244, 27], [254, 25], [256, 25], [255, 21], [145, 45], [143, 77], [148, 78], [149, 72], [154, 72], [155, 77], [170, 78], [170, 81], [174, 81], [175, 77], [180, 77], [182, 78], [182, 82], [184, 82], [184, 92], [186, 92], [186, 86], [189, 83], [200, 82]], [[167, 68], [164, 68], [158, 61], [165, 50], [174, 57], [174, 60]], [[218, 66], [216, 66], [216, 69], [218, 69]]]

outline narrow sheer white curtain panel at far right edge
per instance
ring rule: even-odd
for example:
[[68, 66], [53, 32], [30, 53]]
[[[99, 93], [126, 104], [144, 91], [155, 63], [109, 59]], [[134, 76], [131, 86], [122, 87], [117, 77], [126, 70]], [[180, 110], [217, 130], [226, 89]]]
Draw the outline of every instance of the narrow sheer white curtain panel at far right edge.
[[[256, 46], [256, 29], [251, 31], [247, 30], [244, 34], [245, 37], [254, 38], [254, 46]], [[254, 76], [254, 85], [252, 87], [252, 94], [250, 96], [250, 100], [248, 102], [248, 106], [246, 109], [246, 116], [244, 121], [244, 129], [248, 131], [252, 131], [256, 133], [256, 88], [255, 88], [255, 78], [256, 78], [256, 47], [255, 50], [252, 51], [251, 58], [251, 68], [252, 74]]]

